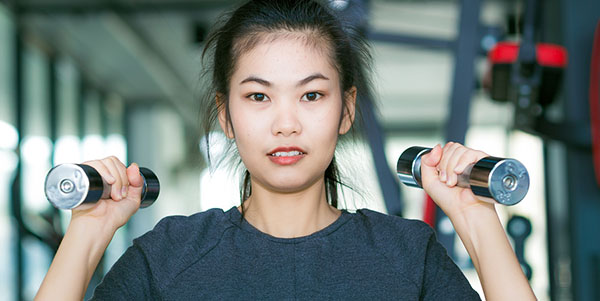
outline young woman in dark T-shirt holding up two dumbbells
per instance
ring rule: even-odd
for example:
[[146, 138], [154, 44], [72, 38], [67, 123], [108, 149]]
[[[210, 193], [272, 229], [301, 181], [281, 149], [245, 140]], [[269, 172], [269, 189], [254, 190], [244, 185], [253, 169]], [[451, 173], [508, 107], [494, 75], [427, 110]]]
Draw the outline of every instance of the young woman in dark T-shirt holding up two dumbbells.
[[[97, 299], [479, 299], [419, 221], [337, 208], [334, 152], [369, 92], [368, 51], [313, 1], [250, 1], [207, 43], [210, 106], [247, 168], [242, 204], [167, 217], [96, 288]], [[455, 186], [485, 153], [460, 144], [423, 158], [489, 300], [534, 299], [494, 205]], [[111, 199], [77, 208], [38, 299], [81, 299], [116, 229], [140, 203], [135, 164], [87, 162]]]

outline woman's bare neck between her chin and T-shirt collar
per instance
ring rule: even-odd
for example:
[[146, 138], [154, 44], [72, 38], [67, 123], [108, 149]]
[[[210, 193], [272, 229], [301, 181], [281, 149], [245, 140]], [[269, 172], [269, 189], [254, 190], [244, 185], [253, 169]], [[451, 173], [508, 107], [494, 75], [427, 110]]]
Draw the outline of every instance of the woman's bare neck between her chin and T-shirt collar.
[[341, 212], [327, 203], [325, 183], [302, 191], [279, 193], [252, 183], [244, 218], [258, 230], [280, 238], [307, 236], [332, 224]]

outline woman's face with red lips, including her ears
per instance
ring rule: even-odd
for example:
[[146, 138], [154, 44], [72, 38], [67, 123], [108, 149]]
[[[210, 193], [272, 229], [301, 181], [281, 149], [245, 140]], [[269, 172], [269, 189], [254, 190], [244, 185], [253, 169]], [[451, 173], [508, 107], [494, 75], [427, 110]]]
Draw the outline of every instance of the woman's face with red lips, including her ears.
[[[350, 93], [350, 112], [354, 96]], [[300, 191], [322, 181], [338, 134], [349, 130], [353, 118], [342, 118], [339, 75], [328, 52], [300, 34], [260, 43], [239, 57], [229, 113], [233, 131], [225, 112], [219, 121], [235, 138], [253, 185], [275, 192]]]

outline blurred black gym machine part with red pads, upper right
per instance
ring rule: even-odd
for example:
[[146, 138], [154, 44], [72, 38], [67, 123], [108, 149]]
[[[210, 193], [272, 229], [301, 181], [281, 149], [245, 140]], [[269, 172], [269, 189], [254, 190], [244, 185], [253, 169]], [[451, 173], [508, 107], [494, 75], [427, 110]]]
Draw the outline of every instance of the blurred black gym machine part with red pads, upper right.
[[558, 94], [568, 64], [568, 51], [561, 45], [536, 41], [542, 2], [526, 1], [520, 41], [499, 42], [488, 53], [491, 68], [486, 76], [487, 88], [492, 99], [513, 103], [514, 128], [573, 140], [570, 129], [563, 130], [564, 125], [546, 116], [547, 108]]

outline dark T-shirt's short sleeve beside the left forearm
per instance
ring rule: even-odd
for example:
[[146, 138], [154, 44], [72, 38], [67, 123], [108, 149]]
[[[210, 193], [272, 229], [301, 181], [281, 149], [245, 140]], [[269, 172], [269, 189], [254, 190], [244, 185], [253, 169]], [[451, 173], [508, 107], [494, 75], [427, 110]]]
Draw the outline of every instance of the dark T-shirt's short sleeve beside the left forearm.
[[104, 276], [91, 300], [153, 300], [157, 296], [147, 260], [134, 244]]

